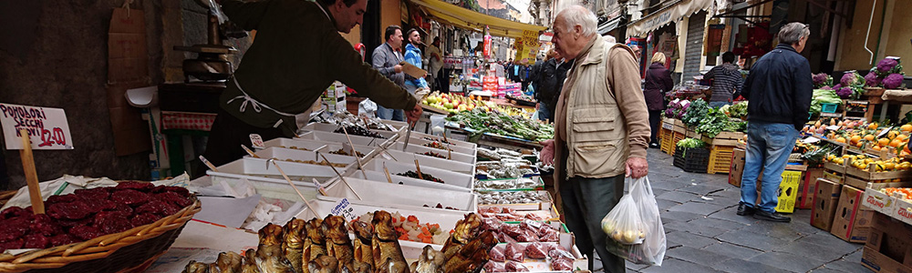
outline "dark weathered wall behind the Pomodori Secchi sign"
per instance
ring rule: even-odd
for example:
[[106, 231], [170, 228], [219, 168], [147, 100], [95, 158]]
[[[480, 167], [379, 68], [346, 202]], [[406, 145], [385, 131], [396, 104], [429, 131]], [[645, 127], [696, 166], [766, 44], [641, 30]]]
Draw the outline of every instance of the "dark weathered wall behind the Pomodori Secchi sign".
[[[147, 1], [138, 0], [133, 7], [156, 8]], [[27, 30], [34, 31], [34, 44], [24, 57], [0, 50], [0, 102], [59, 107], [67, 112], [76, 149], [36, 151], [39, 180], [64, 174], [116, 179], [150, 176], [148, 154], [114, 155], [105, 84], [109, 21], [112, 8], [119, 5], [121, 1], [41, 1], [37, 25]], [[149, 32], [158, 29], [154, 17], [154, 12], [146, 16]], [[153, 54], [161, 52], [150, 49]], [[150, 66], [154, 65], [150, 62]], [[7, 188], [25, 185], [19, 153], [5, 151], [5, 164], [10, 177]]]

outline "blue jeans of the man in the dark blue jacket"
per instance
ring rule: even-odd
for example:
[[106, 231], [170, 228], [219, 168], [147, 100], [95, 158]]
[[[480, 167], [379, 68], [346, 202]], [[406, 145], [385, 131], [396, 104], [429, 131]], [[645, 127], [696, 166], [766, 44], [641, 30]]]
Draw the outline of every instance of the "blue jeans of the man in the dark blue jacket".
[[741, 203], [757, 207], [757, 177], [762, 169], [760, 209], [775, 212], [782, 171], [795, 146], [798, 130], [791, 124], [751, 121], [747, 126], [747, 155], [741, 175]]

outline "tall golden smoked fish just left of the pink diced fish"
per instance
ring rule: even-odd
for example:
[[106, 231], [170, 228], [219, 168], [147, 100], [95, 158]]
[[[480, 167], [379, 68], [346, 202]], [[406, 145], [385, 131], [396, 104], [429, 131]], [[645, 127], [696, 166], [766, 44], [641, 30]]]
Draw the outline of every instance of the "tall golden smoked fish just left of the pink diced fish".
[[[381, 272], [408, 273], [409, 264], [402, 255], [402, 248], [399, 246], [399, 232], [393, 228], [392, 216], [389, 215], [389, 212], [383, 210], [374, 212], [371, 224], [374, 225], [374, 238], [370, 243], [374, 256], [374, 268]], [[399, 267], [399, 264], [404, 267]]]

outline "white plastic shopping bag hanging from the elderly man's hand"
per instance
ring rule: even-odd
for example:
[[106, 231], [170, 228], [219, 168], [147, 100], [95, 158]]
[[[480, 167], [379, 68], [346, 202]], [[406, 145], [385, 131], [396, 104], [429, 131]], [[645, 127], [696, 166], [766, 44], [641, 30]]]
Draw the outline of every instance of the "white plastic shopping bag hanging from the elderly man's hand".
[[[625, 203], [627, 201], [627, 205]], [[632, 205], [630, 205], [632, 204]], [[622, 205], [624, 207], [622, 207]], [[633, 207], [633, 208], [631, 208]], [[622, 235], [620, 240], [612, 237], [608, 232], [606, 220], [619, 220], [617, 216], [626, 214], [636, 215], [632, 212], [620, 212], [616, 210], [636, 210], [639, 217], [639, 224], [642, 228], [642, 240], [638, 244], [629, 244], [626, 235]], [[612, 215], [616, 217], [611, 218]], [[617, 226], [616, 226], [617, 228]], [[602, 229], [606, 230], [608, 239], [606, 248], [609, 252], [621, 258], [644, 265], [662, 265], [662, 259], [665, 258], [667, 242], [665, 240], [665, 227], [662, 227], [662, 218], [658, 215], [658, 203], [652, 193], [652, 185], [649, 184], [648, 177], [641, 177], [633, 180], [630, 191], [617, 203], [611, 212], [602, 219]], [[614, 232], [614, 229], [611, 230]], [[627, 232], [627, 231], [624, 231]]]

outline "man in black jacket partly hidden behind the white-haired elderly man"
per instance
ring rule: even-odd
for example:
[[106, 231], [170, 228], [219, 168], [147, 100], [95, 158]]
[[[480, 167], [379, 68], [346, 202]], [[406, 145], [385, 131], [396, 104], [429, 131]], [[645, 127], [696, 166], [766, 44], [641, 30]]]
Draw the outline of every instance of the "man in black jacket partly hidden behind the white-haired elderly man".
[[561, 88], [564, 88], [564, 79], [567, 76], [567, 70], [572, 64], [565, 62], [554, 50], [548, 51], [549, 56], [554, 56], [544, 61], [539, 72], [535, 76], [536, 82], [535, 99], [538, 100], [538, 119], [553, 120], [554, 109], [557, 106], [557, 98], [561, 95]]

